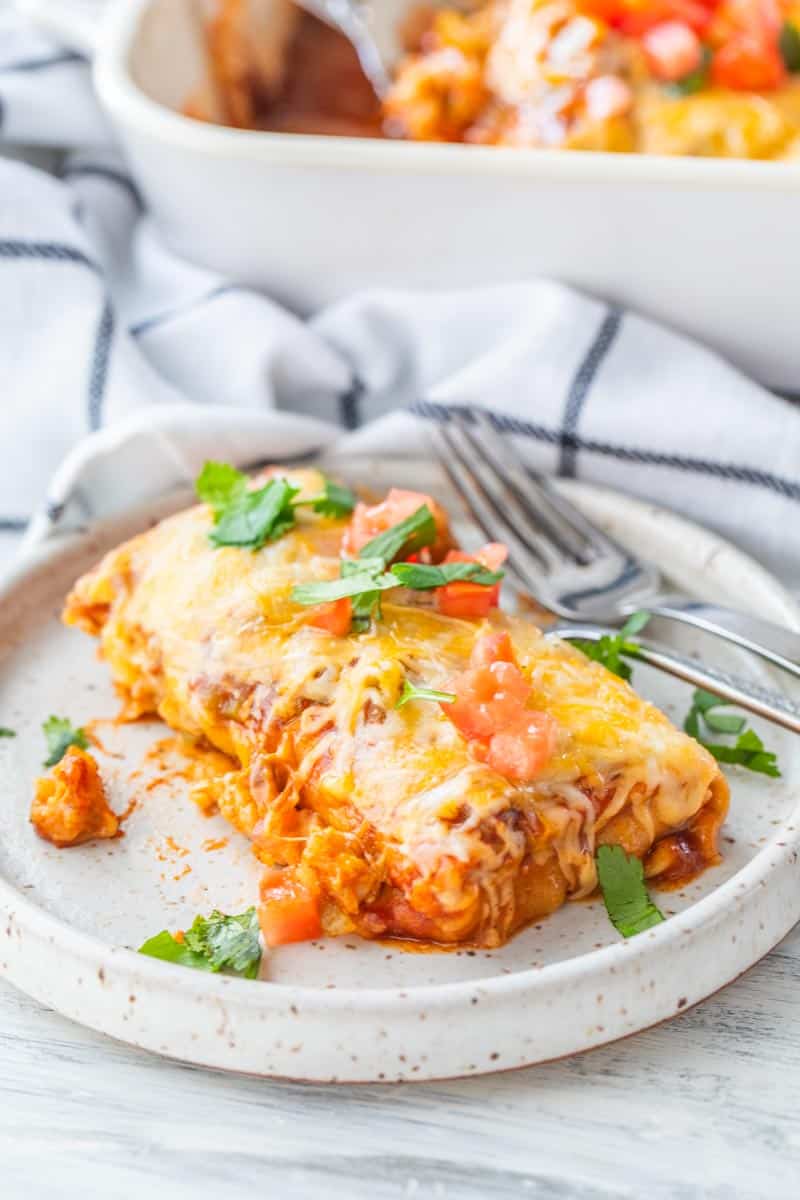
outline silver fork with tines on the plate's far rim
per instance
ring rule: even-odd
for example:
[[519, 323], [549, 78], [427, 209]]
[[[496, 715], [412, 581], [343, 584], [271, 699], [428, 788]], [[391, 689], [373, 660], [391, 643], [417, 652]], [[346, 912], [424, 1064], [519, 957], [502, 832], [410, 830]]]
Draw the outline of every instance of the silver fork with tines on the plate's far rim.
[[551, 612], [619, 628], [646, 608], [752, 650], [800, 678], [800, 635], [733, 608], [666, 594], [658, 570], [533, 472], [486, 413], [451, 409], [429, 433], [475, 523], [489, 541], [509, 546], [512, 580]]

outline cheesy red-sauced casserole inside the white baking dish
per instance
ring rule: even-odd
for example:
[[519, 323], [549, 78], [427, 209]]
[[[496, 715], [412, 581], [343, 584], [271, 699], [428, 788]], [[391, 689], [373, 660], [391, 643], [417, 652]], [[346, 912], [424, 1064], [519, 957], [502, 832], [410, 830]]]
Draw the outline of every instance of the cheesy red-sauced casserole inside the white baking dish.
[[[212, 0], [212, 86], [185, 112], [242, 128], [710, 157], [800, 152], [793, 0], [476, 0], [411, 7], [379, 101], [347, 38], [283, 0], [281, 43]], [[267, 37], [275, 48], [276, 38]]]

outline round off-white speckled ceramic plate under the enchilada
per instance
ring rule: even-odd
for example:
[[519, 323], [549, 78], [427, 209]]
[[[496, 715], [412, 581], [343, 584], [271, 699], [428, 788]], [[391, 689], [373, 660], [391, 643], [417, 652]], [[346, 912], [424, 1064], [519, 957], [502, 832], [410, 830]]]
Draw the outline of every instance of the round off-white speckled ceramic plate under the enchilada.
[[[450, 500], [425, 463], [347, 464], [355, 482], [413, 485]], [[655, 558], [681, 588], [800, 628], [798, 606], [716, 536], [622, 496], [570, 485], [585, 510]], [[198, 912], [254, 901], [243, 839], [203, 818], [180, 780], [148, 790], [143, 756], [163, 726], [108, 727], [115, 808], [138, 805], [116, 841], [58, 851], [28, 823], [50, 713], [112, 716], [108, 672], [59, 623], [62, 598], [98, 554], [185, 497], [40, 552], [6, 582], [0, 612], [0, 971], [77, 1021], [176, 1058], [308, 1080], [413, 1080], [521, 1067], [664, 1020], [747, 970], [800, 918], [800, 740], [754, 722], [783, 778], [732, 772], [724, 863], [661, 893], [670, 919], [630, 942], [597, 901], [567, 905], [501, 950], [408, 953], [359, 938], [265, 955], [264, 980], [222, 978], [136, 955], [131, 947]], [[666, 626], [654, 632], [663, 636]], [[667, 632], [684, 652], [772, 688], [786, 678], [742, 654]], [[637, 684], [680, 720], [688, 689], [637, 666]], [[131, 778], [133, 775], [133, 778]]]

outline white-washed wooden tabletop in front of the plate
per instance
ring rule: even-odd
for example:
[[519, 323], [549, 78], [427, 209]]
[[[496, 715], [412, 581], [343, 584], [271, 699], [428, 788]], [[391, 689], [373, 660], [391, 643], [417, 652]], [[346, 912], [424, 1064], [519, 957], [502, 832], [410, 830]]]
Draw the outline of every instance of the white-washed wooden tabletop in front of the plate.
[[0, 983], [7, 1200], [796, 1200], [799, 1112], [800, 930], [669, 1025], [441, 1084], [185, 1067]]

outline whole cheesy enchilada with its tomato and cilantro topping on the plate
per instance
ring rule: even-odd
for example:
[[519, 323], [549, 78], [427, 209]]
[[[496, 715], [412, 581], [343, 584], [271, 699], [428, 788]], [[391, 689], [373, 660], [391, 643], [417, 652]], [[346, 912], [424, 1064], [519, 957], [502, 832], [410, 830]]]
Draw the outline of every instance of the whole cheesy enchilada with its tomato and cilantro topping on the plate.
[[174, 774], [249, 839], [269, 946], [491, 948], [599, 886], [631, 936], [656, 920], [645, 878], [718, 862], [717, 761], [622, 678], [646, 613], [588, 654], [545, 637], [499, 607], [506, 547], [461, 550], [426, 493], [356, 503], [314, 469], [224, 463], [198, 493], [65, 620], [100, 638], [124, 713], [179, 734], [148, 786]]

